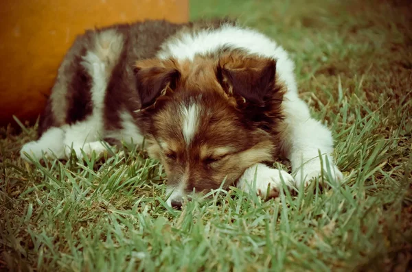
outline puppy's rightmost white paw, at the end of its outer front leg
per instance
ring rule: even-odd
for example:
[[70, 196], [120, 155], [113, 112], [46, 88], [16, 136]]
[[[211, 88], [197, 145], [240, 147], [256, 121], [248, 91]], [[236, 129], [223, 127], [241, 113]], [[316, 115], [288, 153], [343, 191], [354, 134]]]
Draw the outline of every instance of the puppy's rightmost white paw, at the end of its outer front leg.
[[[333, 162], [331, 162], [331, 160], [329, 160], [329, 168], [333, 181], [341, 182], [343, 180], [343, 174], [341, 173], [341, 171], [339, 171], [338, 167], [334, 165]], [[321, 166], [321, 161], [319, 159], [314, 159], [306, 162], [306, 164], [301, 166], [295, 173], [295, 181], [297, 187], [299, 188], [300, 184], [302, 183], [304, 183], [305, 187], [308, 186], [315, 177], [320, 177], [322, 175], [322, 172], [324, 177], [329, 176], [328, 166], [325, 162], [325, 159], [323, 160], [323, 169]]]

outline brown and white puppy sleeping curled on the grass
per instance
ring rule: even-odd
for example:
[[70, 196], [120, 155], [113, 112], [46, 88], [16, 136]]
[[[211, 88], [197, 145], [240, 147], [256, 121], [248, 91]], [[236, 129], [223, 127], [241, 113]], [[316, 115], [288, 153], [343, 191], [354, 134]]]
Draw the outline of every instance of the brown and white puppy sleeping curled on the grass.
[[[87, 32], [60, 66], [40, 138], [21, 156], [66, 158], [72, 147], [81, 158], [82, 150], [104, 151], [106, 138], [146, 138], [176, 206], [223, 180], [262, 197], [276, 196], [282, 177], [307, 185], [329, 168], [340, 180], [332, 136], [310, 118], [293, 69], [282, 47], [231, 21], [146, 21]], [[295, 177], [264, 164], [277, 156], [290, 160]]]

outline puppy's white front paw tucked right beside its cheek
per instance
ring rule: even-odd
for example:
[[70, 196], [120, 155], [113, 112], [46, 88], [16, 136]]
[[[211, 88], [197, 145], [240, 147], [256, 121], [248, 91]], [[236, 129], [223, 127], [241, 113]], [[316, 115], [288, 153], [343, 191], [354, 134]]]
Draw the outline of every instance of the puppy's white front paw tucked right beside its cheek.
[[254, 190], [263, 199], [275, 198], [279, 196], [282, 178], [287, 186], [293, 185], [293, 177], [287, 172], [272, 169], [264, 164], [255, 164], [244, 171], [238, 180], [238, 188], [247, 193]]

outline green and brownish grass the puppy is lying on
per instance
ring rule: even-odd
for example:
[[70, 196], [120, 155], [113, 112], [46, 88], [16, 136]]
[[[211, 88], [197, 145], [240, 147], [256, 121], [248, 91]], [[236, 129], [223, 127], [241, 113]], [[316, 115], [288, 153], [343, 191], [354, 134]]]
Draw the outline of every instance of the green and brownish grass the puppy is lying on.
[[[0, 270], [407, 271], [412, 268], [412, 8], [408, 1], [192, 1], [275, 38], [334, 132], [341, 186], [261, 201], [231, 188], [167, 208], [161, 165], [19, 159], [35, 129], [0, 129]], [[288, 165], [286, 164], [287, 167]]]

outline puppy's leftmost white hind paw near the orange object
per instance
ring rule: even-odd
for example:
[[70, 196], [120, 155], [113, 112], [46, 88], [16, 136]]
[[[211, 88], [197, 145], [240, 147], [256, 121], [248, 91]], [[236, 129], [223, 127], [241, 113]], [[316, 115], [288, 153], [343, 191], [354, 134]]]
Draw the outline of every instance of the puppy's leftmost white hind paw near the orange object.
[[27, 153], [35, 160], [40, 160], [43, 153], [46, 158], [64, 158], [64, 145], [63, 140], [65, 138], [65, 131], [60, 127], [51, 127], [39, 138], [30, 143], [26, 143], [20, 150], [20, 156], [24, 160], [30, 162], [29, 158], [25, 155]]

